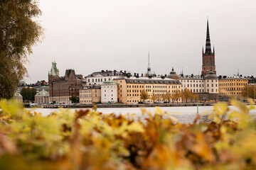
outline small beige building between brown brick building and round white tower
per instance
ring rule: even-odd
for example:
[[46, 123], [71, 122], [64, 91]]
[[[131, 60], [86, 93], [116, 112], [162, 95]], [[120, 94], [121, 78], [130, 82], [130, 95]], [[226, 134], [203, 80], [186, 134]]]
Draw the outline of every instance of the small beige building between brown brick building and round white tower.
[[79, 103], [94, 104], [101, 101], [100, 85], [83, 86], [79, 90]]

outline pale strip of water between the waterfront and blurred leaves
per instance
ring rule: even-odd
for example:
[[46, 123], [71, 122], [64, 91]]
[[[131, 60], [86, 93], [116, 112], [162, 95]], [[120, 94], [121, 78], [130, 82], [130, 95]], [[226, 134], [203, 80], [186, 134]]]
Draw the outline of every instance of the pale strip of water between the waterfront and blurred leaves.
[[[58, 108], [27, 108], [30, 111], [36, 111], [38, 113], [42, 113], [42, 115], [49, 115], [50, 113], [54, 111], [59, 111]], [[68, 109], [68, 108], [64, 108]], [[79, 108], [77, 110], [86, 110], [88, 108]], [[156, 110], [156, 108], [144, 108], [146, 111], [151, 112], [152, 114]], [[231, 110], [235, 110], [234, 106], [230, 106]], [[70, 109], [71, 112], [74, 112], [76, 109], [72, 108]], [[168, 112], [170, 115], [174, 116], [178, 120], [179, 123], [193, 123], [193, 120], [196, 118], [196, 106], [186, 106], [186, 107], [163, 107], [161, 108], [162, 111]], [[201, 115], [201, 120], [207, 120], [206, 115], [203, 115], [206, 111], [213, 110], [213, 106], [200, 106], [199, 107], [199, 115]], [[145, 115], [142, 115], [142, 108], [98, 108], [98, 112], [101, 112], [103, 114], [107, 113], [114, 113], [116, 115], [125, 115], [127, 113], [135, 114], [136, 118], [141, 118], [142, 120], [145, 117]], [[250, 113], [256, 113], [256, 110], [250, 111]]]

